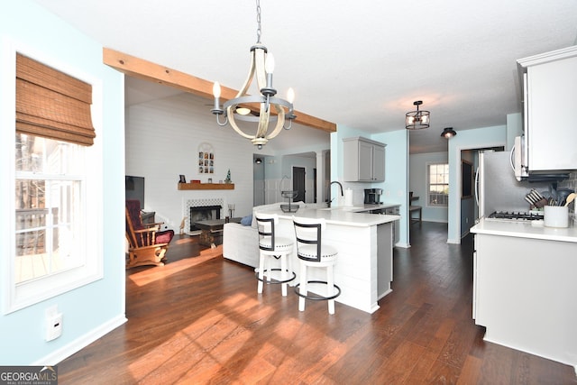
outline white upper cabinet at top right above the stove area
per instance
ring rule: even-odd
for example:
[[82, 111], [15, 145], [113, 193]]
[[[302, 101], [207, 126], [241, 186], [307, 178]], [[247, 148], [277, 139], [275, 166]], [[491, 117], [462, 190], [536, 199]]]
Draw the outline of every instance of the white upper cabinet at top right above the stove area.
[[517, 63], [529, 172], [577, 170], [577, 46]]

